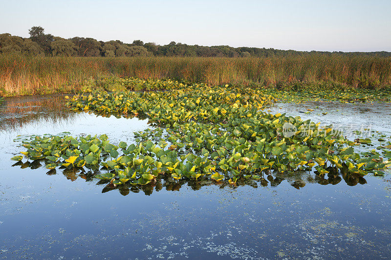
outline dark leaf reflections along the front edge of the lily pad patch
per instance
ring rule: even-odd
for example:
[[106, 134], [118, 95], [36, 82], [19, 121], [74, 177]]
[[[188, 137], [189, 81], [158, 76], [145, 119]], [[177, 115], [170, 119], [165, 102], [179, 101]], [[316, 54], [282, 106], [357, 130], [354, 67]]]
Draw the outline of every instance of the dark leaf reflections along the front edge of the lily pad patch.
[[[46, 163], [50, 163], [48, 160], [34, 160], [34, 161], [26, 161], [21, 162], [18, 161], [12, 166], [21, 166], [22, 169], [24, 168], [31, 168], [31, 169], [38, 169], [41, 167], [44, 167]], [[89, 171], [85, 171], [83, 168], [65, 168], [60, 167], [59, 170], [50, 170], [46, 174], [47, 175], [55, 175], [57, 173], [62, 173], [67, 180], [77, 180], [78, 178], [82, 178], [86, 181], [97, 181], [97, 179], [94, 177], [96, 174], [102, 173], [102, 169], [89, 169]], [[282, 183], [283, 180], [286, 180], [288, 183], [290, 183], [293, 187], [296, 189], [303, 188], [307, 183], [318, 183], [321, 185], [327, 185], [332, 184], [336, 185], [340, 183], [342, 180], [345, 181], [345, 183], [349, 186], [355, 186], [358, 183], [360, 184], [366, 184], [367, 181], [359, 175], [352, 175], [349, 174], [347, 171], [338, 171], [333, 172], [330, 170], [330, 172], [326, 176], [320, 176], [316, 175], [314, 173], [310, 173], [308, 171], [298, 171], [294, 173], [280, 173], [280, 172], [273, 172], [268, 174], [263, 174], [261, 179], [259, 180], [247, 180], [245, 178], [240, 178], [235, 185], [229, 184], [228, 181], [220, 181], [217, 182], [215, 180], [209, 180], [209, 179], [200, 179], [198, 178], [198, 181], [195, 180], [189, 180], [189, 179], [182, 179], [182, 180], [174, 180], [169, 175], [160, 175], [158, 178], [153, 180], [152, 182], [148, 183], [147, 185], [132, 185], [130, 183], [125, 183], [122, 185], [114, 185], [109, 182], [109, 180], [99, 180], [97, 181], [97, 185], [105, 185], [105, 187], [102, 190], [102, 193], [118, 189], [118, 191], [126, 196], [130, 194], [130, 192], [138, 193], [138, 192], [144, 192], [145, 195], [151, 195], [153, 191], [160, 191], [163, 188], [167, 191], [179, 191], [182, 187], [188, 186], [193, 190], [199, 190], [203, 186], [211, 186], [216, 185], [220, 188], [224, 188], [225, 186], [231, 187], [231, 188], [237, 188], [239, 186], [251, 186], [253, 188], [258, 188], [259, 186], [267, 187], [268, 185], [272, 187], [278, 186], [280, 183]]]

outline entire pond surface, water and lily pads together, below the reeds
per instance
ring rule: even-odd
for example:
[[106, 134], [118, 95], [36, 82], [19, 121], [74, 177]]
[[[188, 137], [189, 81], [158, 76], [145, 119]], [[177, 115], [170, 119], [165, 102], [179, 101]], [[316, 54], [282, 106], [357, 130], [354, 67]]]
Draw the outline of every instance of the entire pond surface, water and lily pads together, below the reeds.
[[114, 83], [5, 99], [0, 257], [390, 258], [383, 94]]

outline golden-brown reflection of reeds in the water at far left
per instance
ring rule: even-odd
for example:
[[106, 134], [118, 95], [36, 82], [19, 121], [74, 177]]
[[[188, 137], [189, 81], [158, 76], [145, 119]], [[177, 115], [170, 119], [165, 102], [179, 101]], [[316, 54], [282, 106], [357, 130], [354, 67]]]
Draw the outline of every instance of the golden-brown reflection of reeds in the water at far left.
[[13, 131], [27, 123], [59, 123], [75, 117], [61, 95], [6, 98], [0, 105], [0, 131]]

